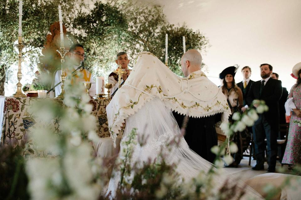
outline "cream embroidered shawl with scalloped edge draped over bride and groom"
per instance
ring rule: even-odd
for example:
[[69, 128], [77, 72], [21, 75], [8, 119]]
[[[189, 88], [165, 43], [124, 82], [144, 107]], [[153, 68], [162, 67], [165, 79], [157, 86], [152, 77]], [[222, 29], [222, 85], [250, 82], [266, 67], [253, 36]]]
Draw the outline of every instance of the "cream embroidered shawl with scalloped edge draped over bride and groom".
[[201, 70], [181, 78], [152, 53], [141, 52], [129, 77], [106, 108], [114, 147], [124, 120], [154, 98], [191, 117], [222, 113], [225, 121], [231, 114], [224, 94]]

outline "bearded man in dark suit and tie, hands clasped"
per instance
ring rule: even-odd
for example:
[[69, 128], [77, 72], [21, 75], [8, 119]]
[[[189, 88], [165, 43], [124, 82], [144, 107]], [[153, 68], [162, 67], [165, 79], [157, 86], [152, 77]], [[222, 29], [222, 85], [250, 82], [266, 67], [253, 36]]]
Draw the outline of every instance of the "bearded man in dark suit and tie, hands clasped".
[[264, 100], [269, 111], [260, 114], [253, 128], [253, 139], [256, 155], [256, 166], [253, 170], [264, 169], [265, 138], [267, 138], [267, 172], [275, 172], [277, 157], [277, 135], [279, 131], [279, 99], [282, 96], [281, 81], [271, 78], [273, 67], [261, 64], [261, 80], [252, 84], [247, 96], [247, 104], [251, 105], [254, 99]]

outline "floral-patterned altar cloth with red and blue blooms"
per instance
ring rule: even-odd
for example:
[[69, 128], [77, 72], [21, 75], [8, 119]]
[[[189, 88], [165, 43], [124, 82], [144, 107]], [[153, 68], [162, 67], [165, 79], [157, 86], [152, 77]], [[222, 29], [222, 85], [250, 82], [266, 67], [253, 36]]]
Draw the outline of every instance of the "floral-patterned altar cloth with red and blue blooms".
[[[33, 106], [37, 101], [42, 101], [39, 98], [5, 98], [3, 108], [3, 125], [1, 133], [0, 145], [7, 145], [12, 143], [13, 148], [19, 146], [25, 147], [23, 156], [35, 155], [35, 156], [51, 156], [51, 152], [48, 153], [37, 153], [32, 148], [32, 141], [27, 140], [27, 135], [30, 133], [30, 128], [34, 127], [38, 120], [34, 113], [30, 113], [30, 107]], [[64, 106], [63, 102], [59, 99], [53, 99], [55, 106]], [[92, 104], [92, 115], [97, 119], [97, 130], [96, 133], [100, 138], [110, 137], [108, 131], [108, 119], [106, 113], [106, 107], [109, 104], [109, 99], [89, 101]], [[51, 122], [45, 124], [50, 127], [54, 134], [60, 133], [60, 118], [56, 117]]]

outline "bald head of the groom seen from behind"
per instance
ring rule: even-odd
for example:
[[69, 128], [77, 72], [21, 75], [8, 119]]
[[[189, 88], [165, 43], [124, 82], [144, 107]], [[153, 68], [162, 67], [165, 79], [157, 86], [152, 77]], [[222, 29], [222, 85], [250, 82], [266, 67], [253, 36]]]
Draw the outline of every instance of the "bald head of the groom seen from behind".
[[198, 50], [190, 49], [181, 58], [182, 71], [185, 77], [201, 69], [202, 55]]

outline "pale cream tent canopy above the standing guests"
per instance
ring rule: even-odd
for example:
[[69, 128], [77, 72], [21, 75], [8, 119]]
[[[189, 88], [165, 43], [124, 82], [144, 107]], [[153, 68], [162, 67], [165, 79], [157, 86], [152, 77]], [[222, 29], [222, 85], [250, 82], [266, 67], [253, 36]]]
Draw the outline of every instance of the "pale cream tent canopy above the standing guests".
[[[210, 47], [202, 52], [207, 75], [219, 84], [218, 74], [238, 64], [235, 81], [242, 80], [241, 68], [250, 66], [251, 79], [260, 80], [259, 66], [268, 63], [288, 90], [296, 83], [290, 74], [301, 62], [300, 0], [140, 0], [145, 5], [163, 6], [167, 21], [186, 23], [200, 30]], [[214, 78], [215, 77], [215, 78]]]

